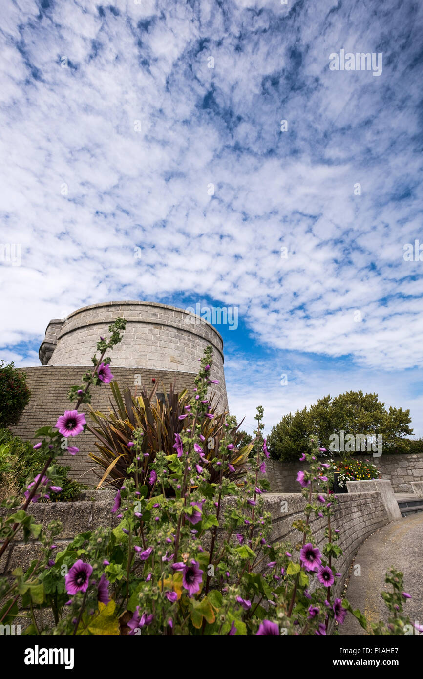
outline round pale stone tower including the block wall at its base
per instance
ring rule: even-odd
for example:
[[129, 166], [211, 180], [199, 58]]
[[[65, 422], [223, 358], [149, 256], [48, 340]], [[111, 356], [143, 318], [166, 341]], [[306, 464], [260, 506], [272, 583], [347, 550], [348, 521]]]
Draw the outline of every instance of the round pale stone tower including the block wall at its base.
[[[227, 407], [225, 375], [223, 373], [223, 339], [217, 330], [198, 316], [183, 309], [147, 301], [111, 301], [86, 306], [69, 314], [64, 320], [50, 320], [39, 348], [41, 366], [25, 368], [26, 383], [31, 389], [31, 400], [14, 433], [22, 439], [34, 441], [39, 426], [55, 424], [59, 415], [72, 407], [67, 399], [69, 387], [81, 384], [81, 376], [96, 351], [100, 335], [109, 334], [108, 327], [118, 316], [125, 318], [123, 339], [110, 350], [111, 372], [119, 388], [138, 392], [141, 384], [149, 390], [158, 384], [158, 392], [174, 384], [177, 391], [194, 390], [198, 373], [198, 359], [208, 344], [213, 347], [211, 378], [219, 410]], [[92, 407], [108, 412], [111, 390], [109, 384], [92, 387]], [[88, 414], [87, 422], [90, 421]], [[88, 452], [96, 452], [95, 437], [86, 432], [72, 443], [79, 453], [71, 456], [65, 451], [60, 464], [71, 466], [69, 475], [94, 485], [94, 462]]]

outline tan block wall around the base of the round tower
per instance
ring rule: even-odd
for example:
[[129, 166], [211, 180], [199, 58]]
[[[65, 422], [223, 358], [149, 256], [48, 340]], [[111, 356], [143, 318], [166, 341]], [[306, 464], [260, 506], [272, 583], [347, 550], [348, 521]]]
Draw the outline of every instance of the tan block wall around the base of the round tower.
[[[155, 378], [156, 384], [158, 384], [158, 392], [163, 392], [164, 389], [168, 391], [170, 384], [175, 384], [177, 391], [180, 392], [187, 388], [189, 394], [192, 394], [195, 386], [194, 379], [196, 375], [194, 373], [183, 371], [173, 372], [170, 370], [161, 371], [137, 367], [122, 368], [115, 367], [113, 363], [111, 364], [111, 370], [115, 380], [119, 384], [121, 392], [123, 392], [126, 387], [130, 388], [132, 394], [135, 393], [136, 389], [138, 389], [138, 393], [140, 392], [141, 387], [134, 386], [134, 375], [141, 375], [141, 384], [145, 386], [147, 392], [153, 387], [153, 383], [151, 382], [152, 378]], [[69, 387], [73, 384], [81, 384], [81, 375], [86, 372], [86, 366], [40, 365], [34, 368], [25, 368], [24, 371], [27, 375], [26, 384], [28, 384], [31, 389], [31, 400], [24, 409], [20, 421], [12, 428], [12, 430], [14, 434], [25, 441], [37, 443], [39, 439], [35, 439], [34, 437], [35, 430], [46, 424], [56, 424], [58, 416], [62, 415], [65, 410], [71, 409], [71, 402], [67, 398], [67, 392]], [[220, 394], [217, 394], [217, 397], [219, 397], [219, 395]], [[109, 399], [111, 397], [112, 393], [109, 384], [92, 387], [91, 405], [93, 409], [105, 413], [109, 412]], [[223, 408], [225, 403], [226, 401], [223, 402], [221, 399], [219, 405]], [[85, 408], [86, 413], [88, 410], [88, 408]], [[84, 411], [84, 408], [82, 408], [81, 411]], [[86, 420], [87, 422], [90, 421], [88, 414], [86, 415]], [[71, 439], [69, 439], [69, 441], [71, 441]], [[86, 433], [72, 439], [73, 445], [79, 447], [79, 453], [75, 456], [71, 456], [69, 453], [65, 452], [65, 454], [59, 458], [60, 464], [71, 466], [69, 475], [73, 479], [77, 479], [77, 481], [86, 483], [92, 487], [100, 480], [92, 471], [95, 466], [94, 462], [88, 458], [89, 452], [97, 451], [96, 446], [94, 445], [95, 441], [96, 438], [94, 435], [86, 431]]]

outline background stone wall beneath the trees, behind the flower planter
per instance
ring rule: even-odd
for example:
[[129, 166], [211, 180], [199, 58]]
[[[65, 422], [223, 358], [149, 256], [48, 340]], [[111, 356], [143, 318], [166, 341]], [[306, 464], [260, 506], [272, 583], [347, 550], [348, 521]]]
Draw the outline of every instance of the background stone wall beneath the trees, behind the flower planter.
[[[334, 458], [335, 460], [341, 458]], [[411, 483], [423, 481], [423, 455], [384, 455], [379, 458], [354, 456], [354, 459], [370, 460], [382, 473], [382, 479], [392, 483], [395, 493], [412, 493]], [[267, 460], [266, 477], [270, 490], [278, 493], [298, 492], [297, 473], [300, 469], [308, 469], [304, 462], [278, 462]]]

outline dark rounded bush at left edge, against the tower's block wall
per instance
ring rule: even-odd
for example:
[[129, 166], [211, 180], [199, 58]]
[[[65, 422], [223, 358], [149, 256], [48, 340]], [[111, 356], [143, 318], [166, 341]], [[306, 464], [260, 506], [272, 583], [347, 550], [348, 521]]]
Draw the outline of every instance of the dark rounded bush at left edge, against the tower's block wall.
[[14, 363], [0, 363], [0, 428], [18, 424], [31, 391], [26, 386], [26, 373], [14, 368]]

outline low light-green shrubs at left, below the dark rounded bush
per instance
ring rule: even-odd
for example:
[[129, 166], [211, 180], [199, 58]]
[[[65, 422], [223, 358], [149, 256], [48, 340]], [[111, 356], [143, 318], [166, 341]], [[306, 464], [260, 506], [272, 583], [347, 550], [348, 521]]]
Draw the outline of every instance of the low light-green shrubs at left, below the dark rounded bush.
[[[39, 473], [44, 464], [43, 453], [33, 449], [30, 441], [22, 441], [8, 429], [0, 429], [0, 485], [15, 486], [18, 492], [26, 488], [27, 480]], [[56, 475], [62, 492], [55, 494], [54, 502], [75, 500], [86, 485], [68, 478], [70, 466], [56, 465]], [[5, 494], [5, 493], [2, 493]]]

